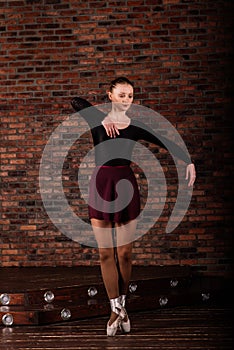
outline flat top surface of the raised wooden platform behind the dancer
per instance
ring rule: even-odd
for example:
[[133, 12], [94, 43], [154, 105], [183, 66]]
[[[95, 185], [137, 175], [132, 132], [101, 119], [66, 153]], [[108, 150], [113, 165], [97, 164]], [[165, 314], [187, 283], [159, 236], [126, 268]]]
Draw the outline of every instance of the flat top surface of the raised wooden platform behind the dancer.
[[[188, 277], [189, 266], [133, 266], [132, 279]], [[0, 293], [102, 283], [100, 266], [0, 268]]]

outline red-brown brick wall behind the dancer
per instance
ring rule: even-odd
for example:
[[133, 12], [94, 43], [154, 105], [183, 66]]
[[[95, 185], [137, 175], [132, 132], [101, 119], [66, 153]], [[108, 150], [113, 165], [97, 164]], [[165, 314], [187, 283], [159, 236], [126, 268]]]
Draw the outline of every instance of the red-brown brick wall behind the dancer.
[[[49, 219], [39, 165], [51, 133], [73, 113], [71, 98], [102, 103], [108, 83], [125, 75], [135, 82], [135, 102], [177, 128], [198, 172], [187, 215], [166, 234], [176, 200], [172, 181], [163, 214], [134, 243], [134, 263], [230, 270], [231, 3], [0, 1], [1, 266], [98, 263], [96, 249], [70, 240]], [[74, 145], [76, 156], [88, 147], [86, 136]], [[72, 151], [66, 164], [65, 191], [85, 218]]]

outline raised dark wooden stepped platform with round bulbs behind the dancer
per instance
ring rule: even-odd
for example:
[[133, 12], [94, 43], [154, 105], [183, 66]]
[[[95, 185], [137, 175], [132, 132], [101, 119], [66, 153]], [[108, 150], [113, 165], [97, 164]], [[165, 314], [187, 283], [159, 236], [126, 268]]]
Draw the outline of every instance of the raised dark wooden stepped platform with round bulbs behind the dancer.
[[[15, 273], [13, 268], [7, 274], [5, 270], [0, 269], [5, 275], [3, 286], [7, 286], [9, 277], [11, 291], [10, 303], [0, 307], [0, 319], [10, 314], [13, 316], [14, 326], [56, 323], [62, 322], [63, 309], [68, 309], [71, 313], [68, 321], [107, 315], [109, 303], [98, 270], [99, 267], [23, 268], [17, 269], [18, 273]], [[22, 291], [22, 281], [18, 279], [20, 276], [24, 276], [24, 293], [19, 292]], [[207, 304], [223, 298], [223, 285], [220, 280], [211, 278], [209, 281], [203, 281], [201, 277], [194, 278], [187, 267], [135, 267], [130, 285], [135, 287], [135, 290], [129, 292], [127, 298], [129, 311], [154, 310], [202, 302]], [[88, 295], [90, 287], [95, 287], [98, 291], [93, 298]], [[54, 293], [55, 297], [51, 303], [44, 299], [46, 291]], [[1, 292], [3, 290], [0, 290], [0, 294]], [[202, 296], [205, 296], [205, 300], [202, 300]]]

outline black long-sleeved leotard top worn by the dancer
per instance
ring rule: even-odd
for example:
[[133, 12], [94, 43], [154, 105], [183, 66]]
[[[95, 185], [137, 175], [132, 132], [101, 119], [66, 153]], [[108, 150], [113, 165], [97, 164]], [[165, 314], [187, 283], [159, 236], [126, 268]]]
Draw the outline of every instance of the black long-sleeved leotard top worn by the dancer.
[[[101, 124], [106, 115], [89, 104], [88, 101], [81, 98], [78, 99], [79, 102], [83, 102], [83, 105], [81, 103], [81, 107], [77, 107], [72, 103], [72, 106], [79, 111], [79, 114], [87, 121], [91, 128], [94, 146], [98, 145], [98, 147], [95, 147], [95, 161], [97, 166], [130, 165], [134, 143], [139, 140], [154, 143], [164, 149], [170, 149], [170, 152], [174, 156], [187, 164], [191, 163], [189, 155], [181, 147], [161, 135], [157, 136], [152, 129], [138, 120], [131, 119], [128, 127], [119, 129], [119, 135], [116, 135], [116, 138], [110, 138]], [[92, 106], [92, 108], [87, 108], [89, 106]], [[104, 142], [108, 140], [110, 142]]]

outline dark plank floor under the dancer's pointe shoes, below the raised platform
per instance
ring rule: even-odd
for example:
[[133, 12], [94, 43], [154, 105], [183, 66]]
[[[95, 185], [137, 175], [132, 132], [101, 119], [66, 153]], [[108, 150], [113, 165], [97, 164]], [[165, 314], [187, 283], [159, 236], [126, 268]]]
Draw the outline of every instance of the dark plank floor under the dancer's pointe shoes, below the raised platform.
[[105, 335], [107, 317], [48, 326], [0, 327], [1, 350], [231, 350], [228, 306], [198, 305], [130, 314], [132, 331]]

